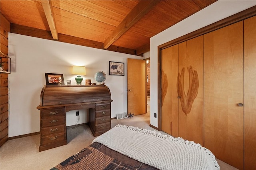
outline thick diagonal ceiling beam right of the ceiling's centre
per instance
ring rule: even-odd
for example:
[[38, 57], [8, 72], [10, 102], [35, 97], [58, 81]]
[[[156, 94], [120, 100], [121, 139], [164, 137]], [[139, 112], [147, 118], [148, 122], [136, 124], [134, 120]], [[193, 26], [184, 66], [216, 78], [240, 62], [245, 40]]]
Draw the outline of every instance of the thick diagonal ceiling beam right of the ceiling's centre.
[[130, 29], [130, 27], [132, 27], [132, 25], [139, 21], [158, 2], [158, 0], [140, 1], [124, 18], [124, 20], [120, 22], [113, 33], [105, 40], [104, 49], [107, 49], [112, 43], [121, 37], [128, 29]]

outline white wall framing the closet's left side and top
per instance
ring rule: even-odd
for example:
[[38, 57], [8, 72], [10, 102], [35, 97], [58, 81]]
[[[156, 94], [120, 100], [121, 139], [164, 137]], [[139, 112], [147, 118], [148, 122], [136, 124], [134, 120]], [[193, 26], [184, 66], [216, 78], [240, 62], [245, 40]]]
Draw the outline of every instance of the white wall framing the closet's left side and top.
[[[256, 5], [255, 0], [219, 0], [150, 39], [150, 124], [158, 127], [158, 46]], [[158, 117], [158, 116], [157, 116]]]

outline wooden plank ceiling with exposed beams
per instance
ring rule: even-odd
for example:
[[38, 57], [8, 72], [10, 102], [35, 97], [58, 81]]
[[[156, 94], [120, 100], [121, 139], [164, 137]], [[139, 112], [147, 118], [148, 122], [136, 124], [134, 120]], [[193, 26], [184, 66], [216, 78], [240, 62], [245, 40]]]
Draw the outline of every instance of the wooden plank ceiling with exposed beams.
[[1, 0], [11, 32], [142, 56], [150, 37], [215, 0]]

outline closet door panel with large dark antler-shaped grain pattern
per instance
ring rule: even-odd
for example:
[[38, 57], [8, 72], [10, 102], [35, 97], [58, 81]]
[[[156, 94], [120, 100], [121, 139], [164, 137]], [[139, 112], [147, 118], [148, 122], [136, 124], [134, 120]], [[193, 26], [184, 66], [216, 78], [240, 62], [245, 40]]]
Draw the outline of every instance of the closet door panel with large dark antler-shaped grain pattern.
[[[179, 137], [204, 144], [204, 37], [179, 44]], [[184, 71], [184, 74], [182, 74]], [[177, 78], [177, 75], [175, 76]], [[186, 111], [184, 111], [186, 110]]]

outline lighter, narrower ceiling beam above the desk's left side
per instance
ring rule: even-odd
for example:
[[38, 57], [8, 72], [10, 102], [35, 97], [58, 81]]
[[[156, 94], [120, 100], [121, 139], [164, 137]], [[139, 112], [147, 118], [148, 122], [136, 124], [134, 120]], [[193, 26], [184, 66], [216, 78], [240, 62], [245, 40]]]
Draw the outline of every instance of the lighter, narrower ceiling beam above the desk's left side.
[[41, 0], [41, 3], [44, 8], [44, 14], [48, 21], [48, 25], [50, 27], [52, 37], [53, 37], [53, 39], [58, 40], [58, 31], [56, 28], [54, 14], [53, 14], [53, 10], [52, 10], [52, 2], [51, 2], [51, 0]]

